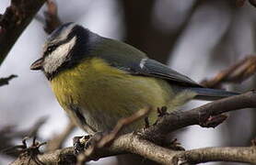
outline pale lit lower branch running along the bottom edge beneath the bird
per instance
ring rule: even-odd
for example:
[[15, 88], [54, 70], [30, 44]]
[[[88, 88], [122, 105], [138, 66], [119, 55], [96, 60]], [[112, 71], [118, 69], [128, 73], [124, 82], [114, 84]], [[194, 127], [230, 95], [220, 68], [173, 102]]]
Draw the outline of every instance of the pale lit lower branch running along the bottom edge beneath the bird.
[[[39, 155], [37, 159], [45, 164], [76, 164], [73, 148], [63, 148], [54, 152]], [[95, 160], [125, 153], [134, 153], [161, 164], [180, 165], [187, 163], [200, 163], [208, 161], [236, 161], [256, 163], [256, 147], [247, 148], [199, 148], [187, 151], [176, 151], [162, 148], [133, 133], [118, 137], [110, 147], [95, 150], [87, 160]], [[27, 161], [25, 161], [27, 160]], [[19, 158], [11, 165], [28, 162]], [[30, 165], [36, 164], [30, 162]]]

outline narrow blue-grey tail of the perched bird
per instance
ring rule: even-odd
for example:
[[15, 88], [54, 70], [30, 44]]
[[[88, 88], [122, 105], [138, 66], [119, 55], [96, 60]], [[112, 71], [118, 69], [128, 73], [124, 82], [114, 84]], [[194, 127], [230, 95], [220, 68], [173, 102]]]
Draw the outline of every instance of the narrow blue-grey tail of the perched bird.
[[228, 92], [225, 90], [210, 89], [210, 88], [192, 87], [190, 88], [190, 90], [192, 90], [192, 92], [197, 93], [197, 95], [194, 97], [195, 99], [206, 100], [206, 101], [218, 100], [221, 98], [239, 94], [239, 93]]

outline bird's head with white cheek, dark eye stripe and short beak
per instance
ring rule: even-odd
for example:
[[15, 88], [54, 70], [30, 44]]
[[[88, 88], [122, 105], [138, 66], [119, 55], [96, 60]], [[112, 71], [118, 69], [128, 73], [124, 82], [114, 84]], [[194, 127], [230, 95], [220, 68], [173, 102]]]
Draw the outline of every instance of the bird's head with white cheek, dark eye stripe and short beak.
[[56, 28], [47, 38], [39, 60], [30, 70], [41, 70], [51, 80], [60, 71], [75, 67], [87, 58], [92, 44], [100, 37], [75, 23], [66, 23]]

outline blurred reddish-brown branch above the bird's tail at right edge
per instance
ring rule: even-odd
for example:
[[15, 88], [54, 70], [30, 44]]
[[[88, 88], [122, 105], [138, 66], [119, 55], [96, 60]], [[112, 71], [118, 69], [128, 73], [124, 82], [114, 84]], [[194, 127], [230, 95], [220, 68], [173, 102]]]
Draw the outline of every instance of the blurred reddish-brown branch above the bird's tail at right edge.
[[239, 60], [224, 71], [220, 71], [213, 79], [204, 80], [202, 84], [208, 88], [216, 88], [225, 82], [243, 82], [256, 71], [256, 56]]

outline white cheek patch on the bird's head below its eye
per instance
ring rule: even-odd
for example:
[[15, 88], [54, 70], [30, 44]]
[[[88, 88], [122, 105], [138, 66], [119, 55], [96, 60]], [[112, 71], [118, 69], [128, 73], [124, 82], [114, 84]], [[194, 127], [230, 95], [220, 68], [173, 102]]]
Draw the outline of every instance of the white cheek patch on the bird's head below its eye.
[[44, 71], [52, 73], [60, 67], [67, 58], [69, 51], [74, 47], [76, 43], [76, 37], [72, 38], [69, 42], [60, 45], [57, 49], [53, 50], [48, 55], [43, 64]]

